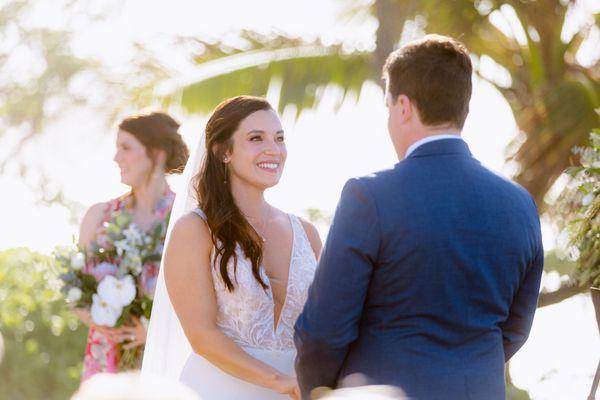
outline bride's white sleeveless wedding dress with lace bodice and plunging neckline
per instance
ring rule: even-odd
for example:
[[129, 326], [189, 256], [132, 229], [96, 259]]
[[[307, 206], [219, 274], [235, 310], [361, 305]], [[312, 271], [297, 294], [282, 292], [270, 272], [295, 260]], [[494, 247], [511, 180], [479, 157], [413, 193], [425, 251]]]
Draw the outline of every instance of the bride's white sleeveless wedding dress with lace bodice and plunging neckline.
[[[206, 219], [200, 209], [193, 211]], [[278, 321], [275, 321], [271, 289], [263, 289], [254, 279], [252, 264], [239, 247], [233, 292], [227, 290], [216, 268], [211, 271], [218, 305], [217, 324], [222, 332], [252, 357], [294, 375], [294, 324], [304, 307], [317, 261], [302, 223], [294, 215], [289, 218], [293, 230], [292, 255], [286, 298]], [[229, 276], [233, 277], [233, 262], [228, 268]], [[262, 267], [260, 275], [268, 284]], [[180, 381], [203, 400], [289, 399], [287, 395], [233, 377], [195, 353], [188, 357]]]

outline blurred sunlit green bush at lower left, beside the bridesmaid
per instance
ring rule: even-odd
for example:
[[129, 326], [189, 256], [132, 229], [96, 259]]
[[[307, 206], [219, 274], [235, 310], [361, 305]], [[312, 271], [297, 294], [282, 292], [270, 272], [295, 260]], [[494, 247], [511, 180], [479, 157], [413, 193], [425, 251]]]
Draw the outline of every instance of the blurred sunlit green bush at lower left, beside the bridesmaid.
[[50, 257], [0, 252], [0, 400], [63, 400], [79, 385], [87, 330], [59, 286]]

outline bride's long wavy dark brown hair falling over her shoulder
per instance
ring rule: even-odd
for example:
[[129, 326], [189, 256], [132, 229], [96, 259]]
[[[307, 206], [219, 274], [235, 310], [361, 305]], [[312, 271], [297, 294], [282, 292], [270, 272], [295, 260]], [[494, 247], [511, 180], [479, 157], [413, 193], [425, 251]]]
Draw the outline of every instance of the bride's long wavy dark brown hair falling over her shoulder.
[[200, 172], [194, 178], [194, 187], [197, 198], [200, 199], [198, 205], [206, 214], [206, 222], [215, 246], [214, 260], [219, 260], [219, 272], [230, 292], [234, 290], [234, 285], [227, 271], [227, 264], [233, 258], [235, 279], [235, 250], [238, 244], [252, 263], [254, 278], [264, 289], [268, 286], [260, 276], [262, 239], [235, 204], [227, 164], [223, 162], [223, 158], [227, 150], [232, 148], [232, 136], [240, 122], [256, 111], [272, 109], [269, 102], [263, 98], [238, 96], [219, 104], [206, 124], [206, 156]]

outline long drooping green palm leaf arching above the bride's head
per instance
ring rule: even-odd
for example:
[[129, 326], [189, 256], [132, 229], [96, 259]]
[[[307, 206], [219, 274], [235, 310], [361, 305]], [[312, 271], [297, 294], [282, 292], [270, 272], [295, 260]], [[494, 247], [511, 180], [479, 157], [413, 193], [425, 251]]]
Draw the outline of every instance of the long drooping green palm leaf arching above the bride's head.
[[279, 111], [294, 105], [298, 115], [316, 106], [319, 88], [333, 84], [343, 89], [341, 100], [351, 93], [358, 98], [362, 85], [370, 79], [369, 53], [344, 54], [340, 47], [298, 47], [234, 55], [201, 64], [198, 74], [180, 82], [169, 97], [190, 113], [206, 114], [229, 97], [264, 96], [271, 82], [278, 81]]

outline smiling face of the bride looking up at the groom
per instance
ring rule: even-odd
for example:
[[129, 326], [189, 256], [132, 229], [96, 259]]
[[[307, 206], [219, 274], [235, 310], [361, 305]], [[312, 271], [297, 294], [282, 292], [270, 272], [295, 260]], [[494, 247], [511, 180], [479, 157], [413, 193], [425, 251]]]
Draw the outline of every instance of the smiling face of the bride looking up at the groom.
[[232, 183], [245, 182], [260, 189], [281, 178], [287, 150], [281, 121], [273, 110], [256, 111], [244, 118], [226, 152]]

